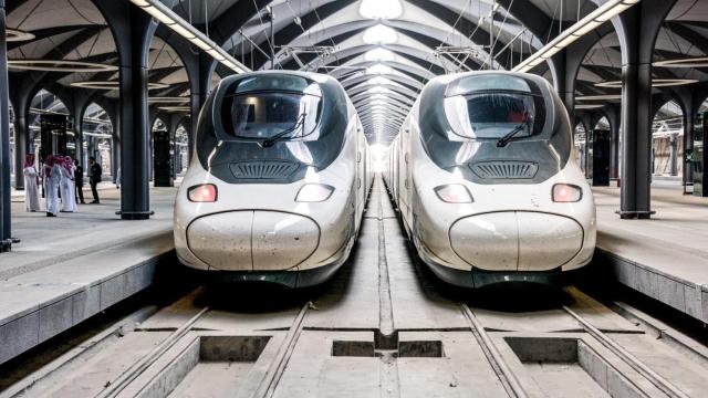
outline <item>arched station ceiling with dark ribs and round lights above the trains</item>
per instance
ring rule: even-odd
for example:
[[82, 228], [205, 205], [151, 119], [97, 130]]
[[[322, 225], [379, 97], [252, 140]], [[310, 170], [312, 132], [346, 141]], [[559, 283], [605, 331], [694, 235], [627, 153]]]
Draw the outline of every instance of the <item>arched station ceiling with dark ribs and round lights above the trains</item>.
[[[126, 7], [149, 4], [136, 0], [128, 6], [128, 0], [121, 1]], [[643, 0], [647, 1], [650, 2]], [[606, 2], [162, 0], [174, 14], [199, 29], [249, 70], [301, 70], [336, 76], [354, 101], [369, 143], [382, 145], [398, 133], [408, 107], [428, 80], [452, 72], [518, 70], [525, 59]], [[627, 6], [633, 2], [627, 1]], [[84, 123], [86, 118], [101, 122], [115, 117], [121, 95], [116, 90], [116, 66], [121, 57], [112, 15], [104, 14], [100, 3], [101, 0], [6, 2], [12, 108], [24, 108], [18, 102], [28, 102], [30, 115], [64, 112]], [[687, 109], [698, 112], [702, 98], [695, 97], [708, 95], [708, 1], [668, 3], [673, 6], [660, 15], [653, 52], [654, 129], [680, 135], [685, 124], [681, 115]], [[554, 55], [529, 70], [556, 87], [571, 86], [574, 95], [566, 106], [571, 107], [572, 117], [583, 122], [584, 129], [593, 129], [589, 123], [603, 116], [614, 124], [613, 115], [621, 113], [622, 69], [626, 63], [623, 34], [626, 33], [618, 33], [612, 21], [603, 23], [569, 44], [566, 62]], [[205, 54], [192, 41], [176, 35], [177, 31], [162, 24], [149, 38], [148, 106], [152, 116], [188, 119], [194, 111], [189, 106], [194, 85], [185, 53]], [[642, 38], [645, 39], [652, 38]], [[206, 57], [211, 66], [206, 69], [210, 90], [233, 71]], [[579, 60], [571, 62], [571, 57]], [[38, 60], [58, 62], [27, 62]], [[114, 67], [86, 71], [83, 65], [66, 61]], [[75, 111], [66, 103], [76, 96], [88, 97], [98, 106], [91, 114], [85, 108]], [[698, 106], [687, 107], [689, 101]], [[76, 112], [83, 114], [76, 116]], [[115, 126], [115, 119], [112, 122]], [[110, 136], [116, 130], [96, 134]]]

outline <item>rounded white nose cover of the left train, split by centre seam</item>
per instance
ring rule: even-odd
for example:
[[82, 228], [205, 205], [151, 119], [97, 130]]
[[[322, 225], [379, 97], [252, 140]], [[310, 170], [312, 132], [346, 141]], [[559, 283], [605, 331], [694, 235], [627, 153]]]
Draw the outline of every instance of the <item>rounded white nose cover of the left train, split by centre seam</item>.
[[281, 271], [317, 248], [320, 228], [310, 218], [280, 211], [229, 211], [195, 220], [189, 250], [221, 271]]

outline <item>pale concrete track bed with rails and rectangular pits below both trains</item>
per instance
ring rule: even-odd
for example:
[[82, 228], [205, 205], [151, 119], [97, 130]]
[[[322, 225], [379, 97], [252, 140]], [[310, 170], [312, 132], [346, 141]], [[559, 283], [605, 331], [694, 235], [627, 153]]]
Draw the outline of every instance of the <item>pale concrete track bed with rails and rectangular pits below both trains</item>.
[[705, 396], [706, 349], [686, 336], [576, 287], [511, 310], [450, 294], [392, 214], [377, 182], [351, 264], [306, 297], [199, 290], [0, 398]]

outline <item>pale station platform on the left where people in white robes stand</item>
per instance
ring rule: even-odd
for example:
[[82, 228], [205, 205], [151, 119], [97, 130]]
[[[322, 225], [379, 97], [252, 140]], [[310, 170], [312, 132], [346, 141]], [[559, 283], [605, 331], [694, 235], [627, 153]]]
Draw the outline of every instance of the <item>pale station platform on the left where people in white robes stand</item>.
[[175, 188], [150, 190], [146, 221], [121, 221], [118, 190], [102, 188], [100, 205], [56, 218], [13, 197], [21, 242], [0, 256], [0, 364], [147, 287], [173, 252]]

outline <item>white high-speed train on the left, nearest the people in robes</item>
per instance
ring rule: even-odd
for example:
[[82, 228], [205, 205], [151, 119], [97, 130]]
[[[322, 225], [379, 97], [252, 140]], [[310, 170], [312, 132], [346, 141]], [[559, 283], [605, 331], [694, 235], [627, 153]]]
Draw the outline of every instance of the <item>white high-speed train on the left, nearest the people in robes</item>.
[[372, 184], [362, 124], [326, 75], [226, 77], [175, 203], [179, 261], [219, 281], [321, 283], [347, 259]]

